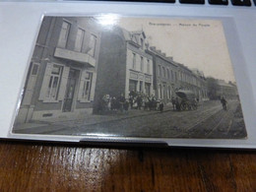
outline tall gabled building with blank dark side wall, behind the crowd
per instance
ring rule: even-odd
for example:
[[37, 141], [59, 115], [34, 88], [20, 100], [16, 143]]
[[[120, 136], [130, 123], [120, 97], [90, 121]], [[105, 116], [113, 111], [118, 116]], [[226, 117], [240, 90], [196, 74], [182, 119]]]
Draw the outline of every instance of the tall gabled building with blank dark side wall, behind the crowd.
[[131, 91], [153, 94], [153, 59], [145, 32], [115, 27], [101, 33], [96, 80], [97, 112], [104, 95], [128, 98]]

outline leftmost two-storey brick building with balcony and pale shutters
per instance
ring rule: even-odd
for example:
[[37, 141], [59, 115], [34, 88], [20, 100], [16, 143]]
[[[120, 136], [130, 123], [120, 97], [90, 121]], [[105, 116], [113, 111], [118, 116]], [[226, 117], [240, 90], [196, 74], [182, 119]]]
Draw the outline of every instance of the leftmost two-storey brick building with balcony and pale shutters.
[[99, 44], [94, 18], [44, 17], [16, 123], [92, 112]]

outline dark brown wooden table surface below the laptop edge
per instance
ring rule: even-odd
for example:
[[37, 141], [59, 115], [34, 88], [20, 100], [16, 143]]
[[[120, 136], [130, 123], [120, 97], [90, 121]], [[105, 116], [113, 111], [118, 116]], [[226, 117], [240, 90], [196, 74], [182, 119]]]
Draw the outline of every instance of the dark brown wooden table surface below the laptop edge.
[[0, 142], [0, 191], [256, 191], [256, 153]]

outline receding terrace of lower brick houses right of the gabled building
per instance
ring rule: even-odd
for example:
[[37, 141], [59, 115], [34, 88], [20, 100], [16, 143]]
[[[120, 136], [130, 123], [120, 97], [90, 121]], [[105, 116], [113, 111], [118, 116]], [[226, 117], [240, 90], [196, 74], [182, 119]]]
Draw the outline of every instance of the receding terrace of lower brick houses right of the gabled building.
[[154, 61], [154, 89], [158, 99], [170, 101], [178, 90], [192, 91], [199, 100], [208, 99], [207, 84], [203, 72], [189, 69], [166, 57], [165, 53], [150, 47]]

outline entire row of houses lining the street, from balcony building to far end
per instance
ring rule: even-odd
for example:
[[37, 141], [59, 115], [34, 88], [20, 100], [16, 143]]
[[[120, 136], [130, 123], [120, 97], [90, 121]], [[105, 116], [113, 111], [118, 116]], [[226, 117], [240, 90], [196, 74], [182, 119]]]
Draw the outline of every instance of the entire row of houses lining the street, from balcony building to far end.
[[16, 123], [92, 114], [102, 96], [131, 91], [167, 103], [177, 90], [208, 98], [204, 74], [151, 47], [145, 32], [102, 29], [89, 17], [45, 17]]

